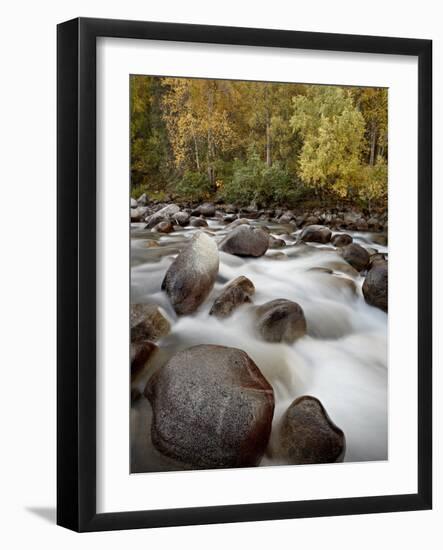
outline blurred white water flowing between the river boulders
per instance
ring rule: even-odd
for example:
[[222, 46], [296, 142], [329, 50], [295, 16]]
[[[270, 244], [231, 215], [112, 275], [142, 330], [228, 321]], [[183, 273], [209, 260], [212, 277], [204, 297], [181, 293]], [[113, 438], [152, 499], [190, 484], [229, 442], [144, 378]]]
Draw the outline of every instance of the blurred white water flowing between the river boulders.
[[[251, 225], [264, 222], [250, 221]], [[301, 395], [320, 399], [346, 436], [346, 462], [387, 459], [387, 315], [367, 305], [363, 277], [350, 268], [330, 245], [296, 244], [288, 226], [266, 223], [286, 247], [268, 250], [261, 258], [241, 258], [220, 252], [214, 289], [193, 315], [177, 317], [161, 291], [163, 277], [178, 251], [201, 230], [183, 228], [159, 235], [133, 224], [131, 229], [131, 301], [155, 303], [171, 320], [171, 333], [159, 342], [160, 351], [140, 389], [156, 366], [173, 353], [196, 344], [220, 344], [246, 351], [274, 388], [275, 413], [270, 443], [261, 465], [280, 462], [273, 456], [276, 427], [290, 403]], [[226, 226], [209, 221], [217, 241]], [[354, 242], [387, 253], [369, 233], [347, 232]], [[156, 241], [152, 246], [152, 241]], [[317, 268], [332, 269], [333, 274]], [[255, 285], [252, 305], [239, 307], [218, 320], [209, 309], [230, 280], [244, 275]], [[350, 283], [352, 280], [355, 285]], [[255, 333], [252, 308], [276, 298], [298, 302], [306, 316], [307, 335], [294, 344], [263, 342]], [[149, 441], [151, 411], [146, 399], [131, 410], [132, 471], [171, 469]]]

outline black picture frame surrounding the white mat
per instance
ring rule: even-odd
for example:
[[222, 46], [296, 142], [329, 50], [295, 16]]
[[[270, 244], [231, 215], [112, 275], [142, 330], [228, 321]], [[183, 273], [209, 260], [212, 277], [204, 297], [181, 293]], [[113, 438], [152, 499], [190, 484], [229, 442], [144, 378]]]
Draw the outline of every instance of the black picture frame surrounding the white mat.
[[[399, 54], [418, 59], [418, 490], [415, 494], [96, 512], [96, 39]], [[57, 29], [57, 523], [104, 531], [432, 507], [432, 42], [78, 18]]]

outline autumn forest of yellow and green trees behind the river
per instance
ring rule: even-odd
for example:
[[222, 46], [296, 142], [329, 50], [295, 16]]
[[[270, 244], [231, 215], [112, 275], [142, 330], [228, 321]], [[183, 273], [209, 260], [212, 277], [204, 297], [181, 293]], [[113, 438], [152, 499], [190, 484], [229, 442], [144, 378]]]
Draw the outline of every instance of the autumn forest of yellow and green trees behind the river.
[[132, 75], [131, 195], [387, 203], [385, 88]]

